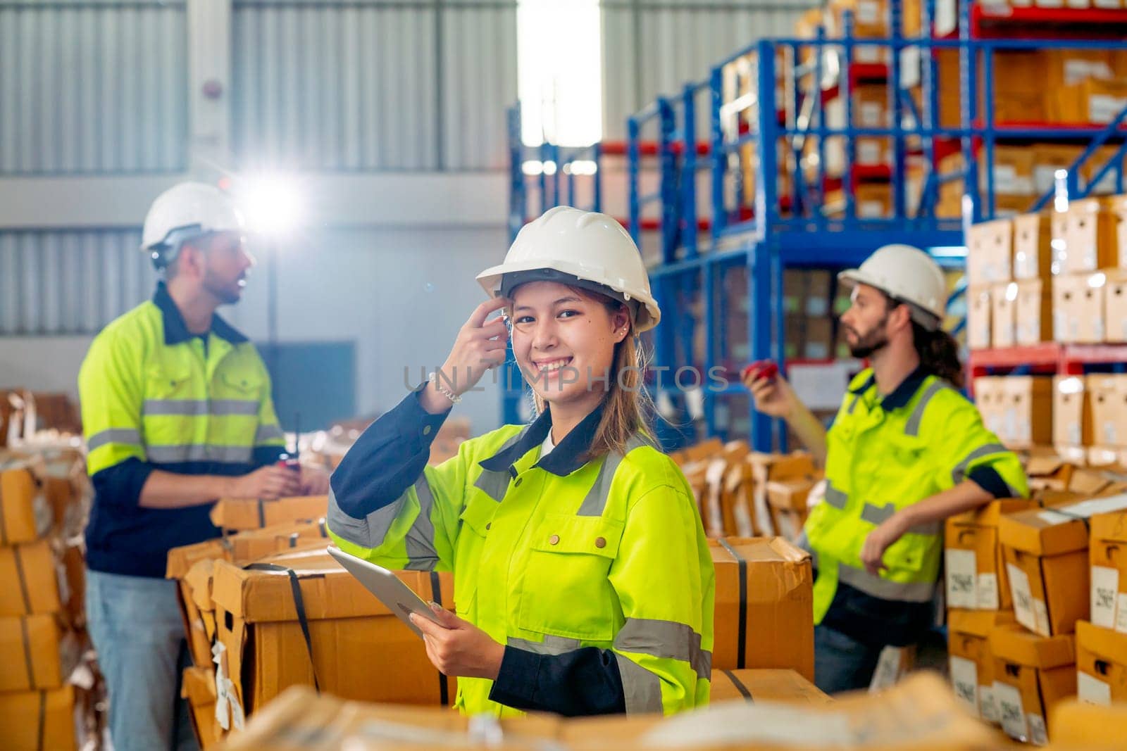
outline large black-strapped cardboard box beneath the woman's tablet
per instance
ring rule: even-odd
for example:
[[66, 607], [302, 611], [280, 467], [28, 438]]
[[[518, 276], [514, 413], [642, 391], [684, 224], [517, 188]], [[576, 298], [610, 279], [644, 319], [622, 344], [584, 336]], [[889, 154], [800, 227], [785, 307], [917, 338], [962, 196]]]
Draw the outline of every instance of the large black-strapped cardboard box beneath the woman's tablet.
[[[289, 686], [312, 686], [314, 668], [321, 690], [345, 698], [433, 705], [453, 699], [453, 681], [427, 660], [423, 640], [323, 549], [278, 554], [252, 566], [214, 563], [220, 704], [228, 698], [232, 709], [237, 701], [246, 713], [257, 712]], [[301, 590], [301, 610], [291, 576]], [[424, 600], [452, 604], [449, 573], [397, 576]]]

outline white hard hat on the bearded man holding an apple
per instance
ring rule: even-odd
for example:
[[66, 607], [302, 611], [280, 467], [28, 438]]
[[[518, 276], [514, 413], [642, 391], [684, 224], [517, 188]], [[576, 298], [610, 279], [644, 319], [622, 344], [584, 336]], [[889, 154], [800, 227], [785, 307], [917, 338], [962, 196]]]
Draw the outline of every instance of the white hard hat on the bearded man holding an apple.
[[915, 310], [912, 318], [934, 331], [947, 314], [947, 279], [931, 256], [912, 245], [884, 245], [859, 269], [846, 269], [837, 280], [852, 287], [869, 285]]

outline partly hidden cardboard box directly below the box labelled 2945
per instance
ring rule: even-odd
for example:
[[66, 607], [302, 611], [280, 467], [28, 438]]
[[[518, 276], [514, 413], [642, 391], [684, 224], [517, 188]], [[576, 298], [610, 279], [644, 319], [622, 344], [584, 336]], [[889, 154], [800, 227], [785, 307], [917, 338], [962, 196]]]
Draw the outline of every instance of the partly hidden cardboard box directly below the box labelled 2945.
[[1000, 723], [994, 701], [994, 653], [990, 633], [1013, 623], [1011, 610], [947, 611], [947, 652], [955, 696], [971, 714]]

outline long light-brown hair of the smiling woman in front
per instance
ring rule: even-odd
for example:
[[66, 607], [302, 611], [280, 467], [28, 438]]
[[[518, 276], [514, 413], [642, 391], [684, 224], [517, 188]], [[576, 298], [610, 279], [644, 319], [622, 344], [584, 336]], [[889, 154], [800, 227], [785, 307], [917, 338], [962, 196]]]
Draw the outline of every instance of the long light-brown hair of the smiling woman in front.
[[[610, 387], [603, 399], [603, 417], [598, 421], [595, 437], [585, 457], [586, 461], [610, 454], [627, 453], [627, 445], [633, 436], [656, 445], [650, 415], [654, 414], [654, 402], [646, 391], [642, 375], [648, 365], [648, 358], [641, 341], [633, 332], [633, 316], [630, 309], [621, 301], [601, 295], [589, 289], [568, 287], [580, 297], [594, 298], [602, 303], [607, 314], [625, 310], [629, 321], [625, 339], [614, 345], [614, 358], [611, 363]], [[544, 411], [544, 401], [535, 392], [532, 393], [536, 414]]]

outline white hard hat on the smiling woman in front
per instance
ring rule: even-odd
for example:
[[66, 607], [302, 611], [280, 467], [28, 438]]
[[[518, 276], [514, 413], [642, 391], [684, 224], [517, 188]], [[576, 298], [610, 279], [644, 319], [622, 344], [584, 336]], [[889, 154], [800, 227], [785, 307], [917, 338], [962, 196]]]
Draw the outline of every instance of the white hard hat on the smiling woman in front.
[[478, 275], [490, 295], [508, 296], [518, 284], [559, 281], [621, 299], [633, 311], [635, 332], [657, 325], [662, 311], [649, 290], [641, 253], [618, 220], [556, 206], [524, 225], [505, 262]]

